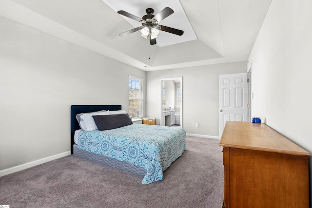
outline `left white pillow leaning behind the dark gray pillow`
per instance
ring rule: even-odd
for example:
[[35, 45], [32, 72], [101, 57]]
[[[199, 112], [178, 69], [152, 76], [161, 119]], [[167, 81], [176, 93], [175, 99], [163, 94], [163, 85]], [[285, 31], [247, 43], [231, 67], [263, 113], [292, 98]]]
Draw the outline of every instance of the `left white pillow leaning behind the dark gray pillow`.
[[98, 130], [98, 127], [96, 123], [94, 122], [92, 115], [109, 115], [109, 114], [110, 114], [109, 111], [80, 113], [80, 114], [77, 114], [76, 118], [79, 122], [81, 129], [83, 129], [84, 131], [94, 131], [94, 130]]

